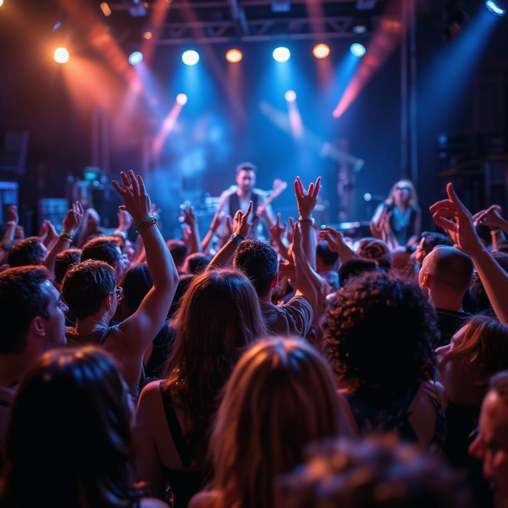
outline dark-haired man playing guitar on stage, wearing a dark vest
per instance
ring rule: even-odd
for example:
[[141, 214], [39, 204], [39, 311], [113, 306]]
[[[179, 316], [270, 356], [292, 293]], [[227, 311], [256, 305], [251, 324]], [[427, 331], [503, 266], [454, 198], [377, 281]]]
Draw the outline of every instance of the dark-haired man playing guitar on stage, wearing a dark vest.
[[[256, 166], [249, 162], [242, 162], [236, 167], [236, 185], [232, 185], [220, 195], [217, 211], [215, 212], [216, 215], [225, 212], [234, 217], [238, 210], [245, 213], [249, 206], [249, 201], [252, 201], [251, 220], [255, 219], [267, 197], [267, 193], [254, 187], [256, 184], [256, 172]], [[263, 210], [261, 218], [264, 220], [266, 227], [270, 229], [275, 221], [270, 206], [267, 206]]]

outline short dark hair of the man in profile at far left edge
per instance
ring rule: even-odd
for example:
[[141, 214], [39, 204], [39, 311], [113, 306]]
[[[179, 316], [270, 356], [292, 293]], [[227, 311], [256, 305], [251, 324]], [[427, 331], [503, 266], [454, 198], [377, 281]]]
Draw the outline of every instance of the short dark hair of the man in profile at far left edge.
[[8, 268], [0, 272], [0, 353], [21, 353], [30, 321], [48, 317], [50, 295], [43, 288], [49, 273], [42, 266]]

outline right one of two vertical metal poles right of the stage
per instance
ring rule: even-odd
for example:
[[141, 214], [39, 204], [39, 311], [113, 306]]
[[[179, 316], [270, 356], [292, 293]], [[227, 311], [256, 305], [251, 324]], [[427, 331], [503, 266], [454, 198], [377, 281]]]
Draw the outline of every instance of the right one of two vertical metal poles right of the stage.
[[411, 180], [418, 187], [418, 109], [417, 109], [417, 16], [416, 0], [409, 0], [409, 123], [411, 133]]

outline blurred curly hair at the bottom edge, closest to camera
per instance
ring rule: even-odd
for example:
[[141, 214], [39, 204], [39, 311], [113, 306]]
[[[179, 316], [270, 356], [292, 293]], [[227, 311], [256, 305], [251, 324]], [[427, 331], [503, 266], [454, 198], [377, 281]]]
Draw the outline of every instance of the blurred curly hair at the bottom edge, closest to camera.
[[464, 473], [385, 435], [325, 440], [307, 462], [279, 477], [279, 508], [471, 508]]

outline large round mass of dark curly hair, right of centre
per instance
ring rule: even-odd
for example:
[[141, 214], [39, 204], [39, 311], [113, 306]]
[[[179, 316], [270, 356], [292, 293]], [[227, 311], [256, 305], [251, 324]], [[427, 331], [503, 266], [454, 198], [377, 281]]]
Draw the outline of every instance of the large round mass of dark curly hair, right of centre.
[[433, 378], [436, 313], [416, 285], [364, 273], [329, 300], [323, 331], [339, 384], [352, 392], [401, 395]]

